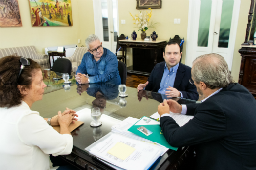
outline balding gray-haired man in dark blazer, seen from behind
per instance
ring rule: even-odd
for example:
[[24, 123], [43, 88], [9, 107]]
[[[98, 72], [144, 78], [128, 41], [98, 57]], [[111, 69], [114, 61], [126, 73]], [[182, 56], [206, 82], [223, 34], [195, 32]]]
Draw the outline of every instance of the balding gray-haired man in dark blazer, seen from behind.
[[[233, 83], [224, 58], [218, 54], [198, 57], [192, 79], [200, 104], [179, 105], [164, 100], [158, 107], [160, 126], [175, 147], [194, 145], [198, 170], [256, 169], [256, 101], [242, 85]], [[194, 118], [182, 127], [169, 111]]]

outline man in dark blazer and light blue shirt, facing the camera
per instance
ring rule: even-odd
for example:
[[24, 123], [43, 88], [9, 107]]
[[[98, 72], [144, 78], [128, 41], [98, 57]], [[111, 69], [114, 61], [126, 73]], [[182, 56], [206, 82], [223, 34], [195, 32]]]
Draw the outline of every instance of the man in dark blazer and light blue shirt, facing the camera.
[[138, 92], [145, 89], [165, 94], [167, 97], [198, 100], [196, 86], [189, 82], [191, 68], [180, 63], [181, 54], [180, 44], [170, 40], [163, 52], [165, 61], [156, 64], [148, 81], [138, 85]]

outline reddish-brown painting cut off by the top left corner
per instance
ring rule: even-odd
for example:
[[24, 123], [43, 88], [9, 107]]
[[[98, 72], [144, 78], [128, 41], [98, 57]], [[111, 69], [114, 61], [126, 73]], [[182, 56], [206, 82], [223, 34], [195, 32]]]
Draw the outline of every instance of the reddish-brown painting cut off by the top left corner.
[[18, 0], [0, 0], [0, 27], [22, 26]]

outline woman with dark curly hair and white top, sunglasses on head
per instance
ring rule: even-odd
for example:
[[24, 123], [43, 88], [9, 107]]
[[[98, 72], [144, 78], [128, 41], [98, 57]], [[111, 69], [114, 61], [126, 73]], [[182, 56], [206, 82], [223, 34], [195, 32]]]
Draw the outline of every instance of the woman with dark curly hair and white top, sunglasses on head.
[[[0, 66], [0, 167], [48, 170], [49, 154], [71, 153], [68, 126], [77, 115], [66, 109], [43, 119], [30, 109], [42, 99], [46, 87], [40, 65], [32, 59], [7, 56], [0, 59]], [[60, 133], [50, 125], [60, 125]]]

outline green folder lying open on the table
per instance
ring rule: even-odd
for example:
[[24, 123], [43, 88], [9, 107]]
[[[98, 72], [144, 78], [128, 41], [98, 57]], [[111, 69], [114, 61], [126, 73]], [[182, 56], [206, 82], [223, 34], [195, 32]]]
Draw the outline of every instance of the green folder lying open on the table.
[[[150, 120], [149, 120], [150, 119]], [[143, 120], [143, 121], [142, 121]], [[144, 121], [145, 120], [145, 121]], [[150, 123], [156, 123], [155, 125], [147, 125], [147, 120], [150, 121]], [[154, 122], [155, 121], [155, 122]], [[139, 124], [139, 123], [143, 123], [143, 124]], [[147, 128], [148, 130], [150, 130], [152, 132], [152, 134], [150, 135], [145, 135], [144, 133], [142, 133], [141, 131], [138, 130], [139, 127], [145, 127]], [[152, 142], [157, 142], [159, 143], [160, 145], [163, 145], [169, 149], [172, 149], [172, 150], [175, 150], [177, 151], [177, 147], [172, 147], [171, 145], [169, 145], [169, 143], [166, 141], [165, 137], [163, 136], [163, 133], [161, 133], [161, 127], [160, 127], [160, 122], [154, 120], [154, 119], [151, 119], [151, 118], [148, 118], [146, 116], [142, 117], [139, 121], [137, 121], [133, 126], [131, 126], [128, 131], [140, 136], [140, 137], [143, 137], [145, 139], [148, 139]]]

